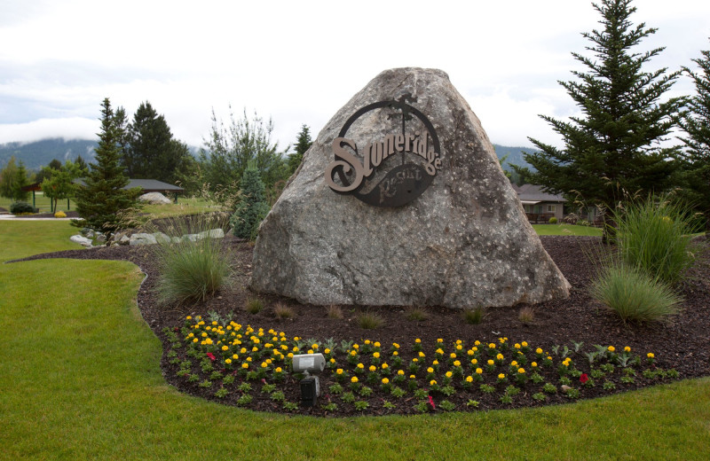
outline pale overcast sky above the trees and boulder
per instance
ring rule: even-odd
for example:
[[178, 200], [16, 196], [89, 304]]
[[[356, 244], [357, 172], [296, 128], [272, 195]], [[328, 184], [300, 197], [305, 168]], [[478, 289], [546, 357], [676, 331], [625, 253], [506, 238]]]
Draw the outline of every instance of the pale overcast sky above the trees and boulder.
[[[707, 0], [636, 0], [634, 24], [665, 46], [651, 68], [692, 66], [710, 48]], [[588, 0], [449, 2], [2, 0], [0, 144], [96, 138], [103, 98], [130, 118], [141, 101], [189, 145], [210, 113], [272, 117], [272, 139], [315, 137], [384, 69], [446, 71], [493, 143], [559, 145], [538, 114], [575, 113], [558, 80], [580, 69], [580, 33], [598, 28]], [[691, 94], [682, 77], [672, 91]], [[672, 96], [669, 94], [668, 96]]]

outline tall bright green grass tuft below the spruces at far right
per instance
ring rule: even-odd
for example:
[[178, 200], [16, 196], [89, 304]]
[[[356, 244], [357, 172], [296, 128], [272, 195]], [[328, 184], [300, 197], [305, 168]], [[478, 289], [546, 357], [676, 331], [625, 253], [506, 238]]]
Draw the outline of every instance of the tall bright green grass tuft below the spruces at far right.
[[633, 200], [614, 214], [619, 255], [628, 266], [678, 283], [693, 262], [690, 238], [692, 215], [687, 207], [663, 195]]

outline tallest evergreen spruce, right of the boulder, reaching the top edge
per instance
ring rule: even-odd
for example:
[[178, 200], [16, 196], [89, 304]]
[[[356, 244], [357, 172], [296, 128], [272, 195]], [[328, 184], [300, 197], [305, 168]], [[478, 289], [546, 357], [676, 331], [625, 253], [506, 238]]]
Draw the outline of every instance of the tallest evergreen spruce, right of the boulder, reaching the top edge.
[[540, 115], [563, 137], [564, 148], [531, 137], [541, 152], [525, 153], [525, 160], [537, 171], [514, 167], [529, 183], [603, 206], [607, 218], [624, 193], [646, 196], [667, 188], [675, 169], [669, 159], [677, 152], [677, 147], [659, 143], [674, 126], [682, 98], [665, 102], [660, 98], [679, 73], [646, 70], [663, 48], [631, 51], [656, 29], [644, 28], [643, 23], [634, 27], [629, 17], [635, 8], [630, 4], [631, 0], [593, 4], [602, 15], [603, 28], [582, 35], [593, 43], [587, 50], [594, 57], [573, 52], [588, 71], [572, 71], [577, 81], [560, 82], [582, 115], [571, 121]]

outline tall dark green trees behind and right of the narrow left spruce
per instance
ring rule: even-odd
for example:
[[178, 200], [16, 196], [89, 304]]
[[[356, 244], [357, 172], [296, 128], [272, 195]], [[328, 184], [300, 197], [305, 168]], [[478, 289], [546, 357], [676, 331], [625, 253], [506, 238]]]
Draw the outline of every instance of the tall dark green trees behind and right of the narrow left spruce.
[[149, 102], [138, 106], [125, 137], [120, 131], [122, 115], [115, 118], [129, 177], [175, 184], [181, 172], [192, 168], [194, 160], [187, 145], [173, 138], [165, 117]]

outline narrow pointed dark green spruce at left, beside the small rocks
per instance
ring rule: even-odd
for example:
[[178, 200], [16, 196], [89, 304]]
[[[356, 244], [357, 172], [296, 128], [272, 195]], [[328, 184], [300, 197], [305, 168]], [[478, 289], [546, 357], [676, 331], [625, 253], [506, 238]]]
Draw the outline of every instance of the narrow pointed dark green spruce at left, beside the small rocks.
[[84, 221], [74, 223], [77, 227], [114, 232], [122, 225], [123, 213], [137, 206], [139, 191], [123, 189], [129, 180], [121, 164], [119, 133], [108, 98], [102, 103], [100, 120], [96, 163], [90, 164], [84, 185], [76, 190], [76, 211]]

